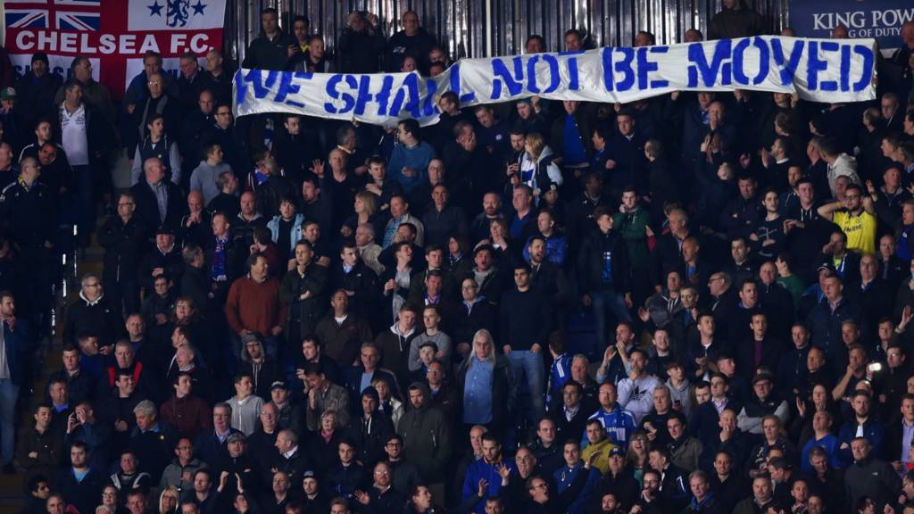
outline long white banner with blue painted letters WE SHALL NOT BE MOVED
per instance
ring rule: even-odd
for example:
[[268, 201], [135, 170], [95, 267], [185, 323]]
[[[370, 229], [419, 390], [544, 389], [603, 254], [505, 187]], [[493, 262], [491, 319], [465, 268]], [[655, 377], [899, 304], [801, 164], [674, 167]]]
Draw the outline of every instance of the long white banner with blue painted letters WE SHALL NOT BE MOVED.
[[552, 100], [633, 102], [670, 91], [796, 92], [813, 102], [876, 98], [873, 39], [744, 37], [642, 48], [462, 59], [435, 78], [419, 73], [239, 70], [236, 115], [293, 112], [390, 125], [438, 121], [437, 98], [462, 106], [538, 95]]

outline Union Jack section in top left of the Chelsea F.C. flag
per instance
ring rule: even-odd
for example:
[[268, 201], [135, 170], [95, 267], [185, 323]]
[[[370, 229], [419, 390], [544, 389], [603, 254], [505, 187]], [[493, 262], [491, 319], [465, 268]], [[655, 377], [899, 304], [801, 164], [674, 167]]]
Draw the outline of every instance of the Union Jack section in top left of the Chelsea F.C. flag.
[[101, 29], [101, 0], [6, 0], [5, 5], [7, 28]]

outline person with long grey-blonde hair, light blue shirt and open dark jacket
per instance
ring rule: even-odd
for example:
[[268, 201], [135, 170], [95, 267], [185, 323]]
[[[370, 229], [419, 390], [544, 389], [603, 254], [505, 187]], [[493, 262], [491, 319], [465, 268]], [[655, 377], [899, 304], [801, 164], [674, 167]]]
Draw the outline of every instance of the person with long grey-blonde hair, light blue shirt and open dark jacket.
[[492, 334], [482, 328], [473, 335], [473, 349], [457, 371], [461, 397], [461, 423], [467, 431], [475, 424], [499, 436], [505, 429], [507, 410], [513, 405], [514, 374], [505, 356], [495, 353]]

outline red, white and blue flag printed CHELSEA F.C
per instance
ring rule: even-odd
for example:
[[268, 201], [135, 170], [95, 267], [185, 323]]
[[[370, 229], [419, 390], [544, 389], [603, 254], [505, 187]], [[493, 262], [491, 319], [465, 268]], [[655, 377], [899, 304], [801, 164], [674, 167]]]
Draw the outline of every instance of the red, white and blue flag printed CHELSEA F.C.
[[186, 51], [204, 56], [222, 47], [226, 0], [5, 0], [5, 48], [20, 74], [36, 52], [69, 76], [69, 63], [90, 59], [92, 75], [120, 99], [143, 70], [143, 54], [162, 55], [176, 74]]

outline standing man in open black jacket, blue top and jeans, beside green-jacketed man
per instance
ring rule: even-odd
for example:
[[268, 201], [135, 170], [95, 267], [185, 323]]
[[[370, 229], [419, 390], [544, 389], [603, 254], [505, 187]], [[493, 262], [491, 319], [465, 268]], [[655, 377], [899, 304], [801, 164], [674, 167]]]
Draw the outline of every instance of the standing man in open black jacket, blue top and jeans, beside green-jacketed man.
[[628, 251], [622, 236], [612, 230], [609, 208], [600, 206], [593, 211], [599, 230], [590, 233], [581, 245], [578, 257], [578, 284], [582, 290], [581, 303], [593, 305], [596, 318], [597, 343], [606, 348], [607, 311], [616, 321], [632, 321]]

